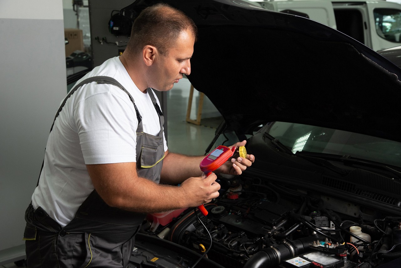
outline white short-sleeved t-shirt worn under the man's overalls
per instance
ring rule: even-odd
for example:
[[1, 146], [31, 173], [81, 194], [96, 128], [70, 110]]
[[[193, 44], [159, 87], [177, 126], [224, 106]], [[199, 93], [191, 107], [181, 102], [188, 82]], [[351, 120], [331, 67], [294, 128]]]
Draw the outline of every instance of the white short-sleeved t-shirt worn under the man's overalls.
[[[77, 84], [97, 75], [113, 77], [127, 89], [142, 116], [144, 132], [157, 136], [160, 121], [152, 99], [136, 87], [119, 57], [95, 67]], [[85, 164], [136, 162], [137, 127], [134, 105], [119, 87], [92, 82], [75, 91], [49, 135], [33, 207], [42, 207], [62, 227], [67, 225], [94, 189]], [[163, 138], [166, 151], [164, 133]]]

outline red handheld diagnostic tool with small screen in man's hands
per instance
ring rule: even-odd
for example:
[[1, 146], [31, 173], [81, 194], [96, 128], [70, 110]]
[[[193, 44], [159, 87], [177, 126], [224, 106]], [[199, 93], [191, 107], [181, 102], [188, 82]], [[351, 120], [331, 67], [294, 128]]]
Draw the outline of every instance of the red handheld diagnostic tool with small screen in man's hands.
[[[199, 167], [201, 168], [201, 171], [209, 176], [213, 171], [218, 169], [219, 166], [224, 164], [231, 156], [233, 156], [234, 152], [235, 146], [230, 149], [227, 146], [220, 145], [205, 158], [203, 158], [201, 164], [199, 164]], [[203, 215], [207, 215], [208, 212], [203, 205], [198, 206], [198, 209], [202, 211]]]

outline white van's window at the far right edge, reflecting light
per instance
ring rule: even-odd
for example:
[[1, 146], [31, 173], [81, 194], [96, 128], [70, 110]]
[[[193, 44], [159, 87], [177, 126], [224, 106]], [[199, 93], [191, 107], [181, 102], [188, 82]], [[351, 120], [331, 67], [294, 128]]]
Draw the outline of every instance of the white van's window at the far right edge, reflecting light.
[[377, 34], [388, 41], [401, 43], [401, 10], [393, 8], [375, 8]]

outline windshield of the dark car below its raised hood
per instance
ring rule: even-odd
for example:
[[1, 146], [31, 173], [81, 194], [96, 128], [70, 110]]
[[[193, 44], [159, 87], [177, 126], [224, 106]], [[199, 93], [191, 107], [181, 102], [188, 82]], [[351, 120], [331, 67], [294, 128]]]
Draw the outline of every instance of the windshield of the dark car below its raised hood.
[[349, 155], [401, 167], [401, 143], [363, 134], [303, 124], [273, 122], [267, 133], [297, 151]]

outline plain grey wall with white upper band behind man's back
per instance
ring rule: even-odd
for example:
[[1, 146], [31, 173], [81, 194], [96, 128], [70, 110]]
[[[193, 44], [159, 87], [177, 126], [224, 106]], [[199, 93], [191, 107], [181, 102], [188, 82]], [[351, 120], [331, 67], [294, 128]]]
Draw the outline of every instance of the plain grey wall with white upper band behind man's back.
[[63, 28], [62, 0], [0, 0], [0, 257], [24, 244], [24, 212], [67, 93]]

